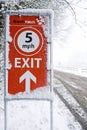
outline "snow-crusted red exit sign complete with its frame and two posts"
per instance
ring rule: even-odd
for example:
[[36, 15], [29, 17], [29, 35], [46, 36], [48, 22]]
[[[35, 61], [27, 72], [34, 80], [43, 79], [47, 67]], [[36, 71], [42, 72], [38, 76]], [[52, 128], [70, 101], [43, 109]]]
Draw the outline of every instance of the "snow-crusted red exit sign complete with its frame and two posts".
[[53, 130], [52, 20], [47, 9], [5, 14], [5, 130], [7, 102], [12, 100], [49, 101]]

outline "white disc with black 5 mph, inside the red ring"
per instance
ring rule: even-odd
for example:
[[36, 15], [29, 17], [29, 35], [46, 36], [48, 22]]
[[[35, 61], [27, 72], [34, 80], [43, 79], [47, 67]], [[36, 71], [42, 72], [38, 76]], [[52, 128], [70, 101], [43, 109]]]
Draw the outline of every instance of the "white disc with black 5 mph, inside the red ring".
[[17, 43], [23, 52], [33, 52], [39, 47], [40, 39], [35, 32], [26, 30], [20, 33]]

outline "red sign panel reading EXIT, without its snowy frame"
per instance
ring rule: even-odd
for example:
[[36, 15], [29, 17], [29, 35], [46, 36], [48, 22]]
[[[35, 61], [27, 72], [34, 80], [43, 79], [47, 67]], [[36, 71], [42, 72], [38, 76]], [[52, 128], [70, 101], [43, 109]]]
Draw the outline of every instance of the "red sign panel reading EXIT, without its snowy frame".
[[10, 15], [8, 93], [31, 92], [47, 86], [46, 21], [39, 16]]

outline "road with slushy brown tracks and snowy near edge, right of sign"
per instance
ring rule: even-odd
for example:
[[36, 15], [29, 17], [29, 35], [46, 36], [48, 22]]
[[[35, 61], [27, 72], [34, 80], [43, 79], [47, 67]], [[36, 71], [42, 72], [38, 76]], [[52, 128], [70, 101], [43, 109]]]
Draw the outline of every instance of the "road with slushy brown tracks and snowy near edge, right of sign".
[[82, 128], [87, 130], [87, 78], [55, 71], [54, 79], [56, 83], [54, 92], [69, 108]]

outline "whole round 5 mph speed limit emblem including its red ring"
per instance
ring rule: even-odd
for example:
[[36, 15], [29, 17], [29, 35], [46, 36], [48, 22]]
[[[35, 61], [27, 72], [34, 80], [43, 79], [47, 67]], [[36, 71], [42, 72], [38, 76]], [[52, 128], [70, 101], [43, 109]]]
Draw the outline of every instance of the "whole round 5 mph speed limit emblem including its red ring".
[[33, 27], [22, 28], [15, 34], [14, 46], [22, 55], [34, 55], [43, 46], [42, 34]]

